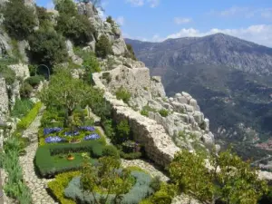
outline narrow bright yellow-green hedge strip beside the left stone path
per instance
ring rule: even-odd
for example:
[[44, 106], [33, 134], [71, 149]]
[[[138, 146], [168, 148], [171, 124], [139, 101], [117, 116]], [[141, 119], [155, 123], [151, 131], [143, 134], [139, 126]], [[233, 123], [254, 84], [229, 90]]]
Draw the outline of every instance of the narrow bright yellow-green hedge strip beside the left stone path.
[[42, 102], [36, 102], [34, 104], [34, 108], [30, 112], [28, 112], [28, 114], [21, 121], [18, 122], [17, 130], [19, 131], [27, 129], [40, 112], [42, 106]]

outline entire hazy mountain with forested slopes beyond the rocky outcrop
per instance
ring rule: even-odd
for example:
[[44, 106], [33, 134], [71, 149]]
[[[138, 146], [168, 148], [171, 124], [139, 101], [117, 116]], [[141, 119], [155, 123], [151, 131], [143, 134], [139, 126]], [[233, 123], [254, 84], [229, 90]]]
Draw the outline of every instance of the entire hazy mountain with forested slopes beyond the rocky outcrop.
[[125, 39], [136, 57], [161, 75], [168, 95], [189, 92], [224, 141], [267, 141], [272, 132], [272, 48], [227, 34]]

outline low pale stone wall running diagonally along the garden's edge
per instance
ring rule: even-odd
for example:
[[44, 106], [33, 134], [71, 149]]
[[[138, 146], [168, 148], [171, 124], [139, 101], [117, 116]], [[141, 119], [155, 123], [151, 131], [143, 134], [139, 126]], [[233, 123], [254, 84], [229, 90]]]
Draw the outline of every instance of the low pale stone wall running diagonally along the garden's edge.
[[127, 104], [117, 100], [111, 92], [107, 91], [100, 79], [101, 77], [102, 73], [93, 73], [92, 75], [96, 86], [105, 91], [105, 100], [112, 104], [113, 120], [127, 119], [134, 140], [144, 145], [147, 156], [161, 166], [168, 165], [175, 152], [180, 151], [180, 149], [160, 124], [142, 116], [140, 112], [133, 111]]

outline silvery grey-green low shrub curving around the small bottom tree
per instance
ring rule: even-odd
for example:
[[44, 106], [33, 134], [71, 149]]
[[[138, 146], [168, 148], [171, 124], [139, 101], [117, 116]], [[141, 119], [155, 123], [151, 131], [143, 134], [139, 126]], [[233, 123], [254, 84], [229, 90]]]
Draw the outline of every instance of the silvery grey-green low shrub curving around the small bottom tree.
[[[153, 190], [150, 188], [151, 176], [142, 171], [131, 171], [131, 176], [136, 182], [128, 193], [122, 195], [121, 204], [138, 204], [141, 199], [145, 199], [152, 195]], [[76, 200], [78, 203], [93, 203], [94, 199], [91, 193], [84, 192], [81, 189], [80, 178], [74, 178], [64, 190], [67, 198]], [[95, 192], [95, 197], [100, 199], [102, 194]], [[113, 202], [114, 194], [109, 195], [109, 203]]]

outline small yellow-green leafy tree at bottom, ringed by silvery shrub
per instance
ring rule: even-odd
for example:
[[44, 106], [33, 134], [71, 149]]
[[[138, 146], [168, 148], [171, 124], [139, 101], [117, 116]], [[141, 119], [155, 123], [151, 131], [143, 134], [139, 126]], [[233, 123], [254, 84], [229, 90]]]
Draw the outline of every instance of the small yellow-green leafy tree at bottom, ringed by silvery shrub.
[[[120, 203], [121, 194], [131, 187], [130, 171], [122, 170], [120, 175], [118, 172], [120, 167], [120, 160], [114, 157], [102, 157], [97, 167], [92, 166], [90, 160], [84, 160], [81, 186], [83, 190], [92, 193], [96, 204], [107, 203], [110, 194], [115, 194], [114, 203]], [[97, 199], [94, 194], [97, 187], [105, 189], [106, 196]]]

